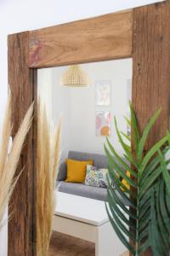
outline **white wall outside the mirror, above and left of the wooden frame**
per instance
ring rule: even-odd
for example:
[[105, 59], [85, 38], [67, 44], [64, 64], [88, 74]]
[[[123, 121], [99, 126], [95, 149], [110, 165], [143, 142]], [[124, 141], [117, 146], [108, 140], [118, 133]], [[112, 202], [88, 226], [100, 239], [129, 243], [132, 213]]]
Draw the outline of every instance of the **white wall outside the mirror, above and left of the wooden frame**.
[[[1, 0], [0, 1], [0, 125], [7, 99], [7, 35], [9, 33], [52, 26], [71, 20], [79, 20], [96, 15], [129, 9], [160, 0]], [[0, 235], [0, 255], [6, 255], [7, 239], [3, 231]], [[2, 246], [3, 245], [3, 246]]]

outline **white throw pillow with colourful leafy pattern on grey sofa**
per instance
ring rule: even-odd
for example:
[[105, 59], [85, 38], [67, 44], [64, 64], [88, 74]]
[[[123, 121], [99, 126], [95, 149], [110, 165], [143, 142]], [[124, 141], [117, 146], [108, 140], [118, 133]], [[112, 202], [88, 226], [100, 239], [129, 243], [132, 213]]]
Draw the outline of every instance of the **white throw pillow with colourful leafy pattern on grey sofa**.
[[107, 187], [107, 169], [97, 169], [95, 166], [87, 165], [85, 184], [88, 186], [106, 188]]

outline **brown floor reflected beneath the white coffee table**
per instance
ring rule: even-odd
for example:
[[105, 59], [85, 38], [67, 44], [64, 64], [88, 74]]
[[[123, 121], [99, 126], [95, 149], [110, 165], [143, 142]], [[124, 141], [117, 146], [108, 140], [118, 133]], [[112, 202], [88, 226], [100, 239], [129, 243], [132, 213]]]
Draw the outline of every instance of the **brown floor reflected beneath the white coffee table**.
[[51, 238], [49, 256], [94, 256], [94, 243], [54, 232]]

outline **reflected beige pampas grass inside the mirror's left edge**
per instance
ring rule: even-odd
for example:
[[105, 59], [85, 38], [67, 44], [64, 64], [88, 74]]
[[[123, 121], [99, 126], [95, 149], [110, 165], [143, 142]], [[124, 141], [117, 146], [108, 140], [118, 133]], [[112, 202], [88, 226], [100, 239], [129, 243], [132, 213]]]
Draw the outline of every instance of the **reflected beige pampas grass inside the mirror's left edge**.
[[40, 100], [37, 109], [37, 255], [47, 256], [54, 216], [54, 189], [59, 168], [61, 119], [55, 131]]

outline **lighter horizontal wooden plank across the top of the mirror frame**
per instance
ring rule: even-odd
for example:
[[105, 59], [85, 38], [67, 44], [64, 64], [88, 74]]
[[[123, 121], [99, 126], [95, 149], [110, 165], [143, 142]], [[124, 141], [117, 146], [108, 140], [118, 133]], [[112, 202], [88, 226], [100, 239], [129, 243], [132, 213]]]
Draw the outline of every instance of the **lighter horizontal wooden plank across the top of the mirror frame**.
[[132, 55], [132, 10], [30, 32], [30, 67], [57, 67]]

